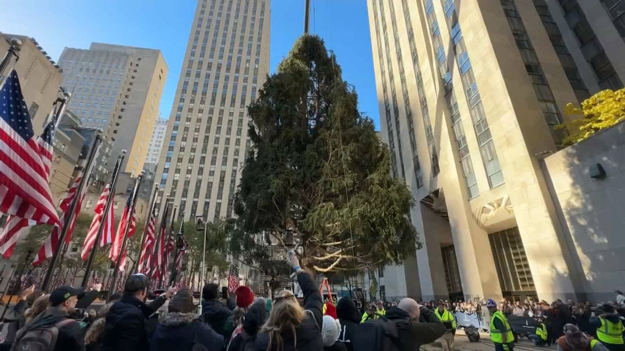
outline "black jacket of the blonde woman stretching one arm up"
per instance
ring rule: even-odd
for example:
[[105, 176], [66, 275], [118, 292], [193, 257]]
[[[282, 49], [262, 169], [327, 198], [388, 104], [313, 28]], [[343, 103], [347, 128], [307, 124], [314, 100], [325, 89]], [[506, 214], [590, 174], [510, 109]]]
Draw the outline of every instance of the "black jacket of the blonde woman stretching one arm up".
[[[282, 336], [282, 351], [295, 351], [295, 341], [297, 340], [297, 351], [321, 351], [323, 342], [321, 340], [321, 324], [323, 301], [312, 277], [306, 272], [297, 274], [297, 282], [304, 294], [304, 320], [296, 327], [295, 335], [291, 330], [284, 332]], [[259, 333], [256, 337], [256, 351], [266, 351], [269, 345], [269, 334]], [[276, 344], [272, 344], [270, 350], [276, 351]]]

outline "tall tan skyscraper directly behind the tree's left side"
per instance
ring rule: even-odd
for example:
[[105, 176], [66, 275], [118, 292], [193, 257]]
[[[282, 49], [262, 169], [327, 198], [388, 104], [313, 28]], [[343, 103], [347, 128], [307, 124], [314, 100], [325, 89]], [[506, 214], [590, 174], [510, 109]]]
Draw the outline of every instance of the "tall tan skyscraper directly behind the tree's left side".
[[268, 72], [269, 1], [197, 1], [156, 172], [159, 207], [170, 195], [185, 219], [231, 217], [246, 106]]

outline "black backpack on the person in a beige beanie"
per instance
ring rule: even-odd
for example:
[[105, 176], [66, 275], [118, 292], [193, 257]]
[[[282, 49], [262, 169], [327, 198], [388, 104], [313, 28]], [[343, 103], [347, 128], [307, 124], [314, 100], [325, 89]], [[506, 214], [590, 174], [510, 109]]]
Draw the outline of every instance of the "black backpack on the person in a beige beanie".
[[356, 326], [356, 338], [351, 340], [354, 350], [399, 351], [397, 325], [384, 315]]

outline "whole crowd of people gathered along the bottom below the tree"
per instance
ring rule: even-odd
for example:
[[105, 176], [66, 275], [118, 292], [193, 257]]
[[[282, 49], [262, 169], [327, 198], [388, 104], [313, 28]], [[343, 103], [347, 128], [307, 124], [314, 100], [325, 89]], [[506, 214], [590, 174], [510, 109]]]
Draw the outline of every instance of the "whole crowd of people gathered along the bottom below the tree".
[[[51, 294], [25, 289], [2, 325], [1, 350], [29, 351], [412, 351], [440, 342], [454, 349], [455, 312], [489, 318], [496, 350], [514, 349], [516, 332], [509, 319], [536, 319], [536, 345], [556, 344], [558, 350], [624, 351], [622, 320], [625, 297], [600, 306], [556, 300], [524, 303], [507, 300], [419, 304], [413, 299], [372, 302], [363, 310], [343, 297], [324, 304], [311, 275], [289, 258], [302, 290], [297, 299], [282, 290], [272, 300], [254, 296], [241, 286], [220, 300], [219, 286], [206, 284], [201, 306], [191, 291], [171, 288], [149, 302], [150, 282], [131, 275], [123, 293], [106, 304], [94, 304], [100, 285], [89, 292], [71, 286]], [[91, 307], [91, 309], [88, 309]], [[198, 312], [201, 307], [201, 312]]]

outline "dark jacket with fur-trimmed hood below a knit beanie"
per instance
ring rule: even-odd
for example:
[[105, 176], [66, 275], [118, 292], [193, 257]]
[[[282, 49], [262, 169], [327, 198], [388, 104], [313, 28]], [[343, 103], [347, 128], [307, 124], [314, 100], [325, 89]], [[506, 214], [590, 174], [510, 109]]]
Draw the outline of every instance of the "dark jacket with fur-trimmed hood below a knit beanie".
[[150, 339], [150, 350], [187, 351], [195, 344], [202, 345], [209, 351], [221, 351], [224, 337], [200, 322], [193, 312], [164, 312], [159, 315], [158, 325]]

